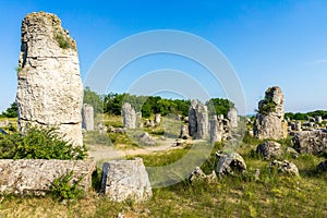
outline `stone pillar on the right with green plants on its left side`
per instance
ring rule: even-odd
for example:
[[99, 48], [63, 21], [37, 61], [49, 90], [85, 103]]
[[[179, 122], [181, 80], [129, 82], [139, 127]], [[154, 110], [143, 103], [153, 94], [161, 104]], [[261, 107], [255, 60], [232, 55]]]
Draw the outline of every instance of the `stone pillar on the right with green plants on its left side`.
[[287, 137], [288, 123], [284, 121], [283, 94], [278, 86], [269, 87], [265, 98], [258, 102], [253, 133], [257, 138], [280, 140]]

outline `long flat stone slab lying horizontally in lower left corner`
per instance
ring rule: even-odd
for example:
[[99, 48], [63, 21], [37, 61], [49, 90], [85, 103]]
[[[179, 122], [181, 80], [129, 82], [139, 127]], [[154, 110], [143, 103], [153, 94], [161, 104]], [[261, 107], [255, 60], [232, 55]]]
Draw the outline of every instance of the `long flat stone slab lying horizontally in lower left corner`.
[[72, 170], [72, 181], [82, 177], [81, 187], [87, 192], [95, 169], [92, 160], [0, 159], [0, 193], [45, 195], [55, 179]]

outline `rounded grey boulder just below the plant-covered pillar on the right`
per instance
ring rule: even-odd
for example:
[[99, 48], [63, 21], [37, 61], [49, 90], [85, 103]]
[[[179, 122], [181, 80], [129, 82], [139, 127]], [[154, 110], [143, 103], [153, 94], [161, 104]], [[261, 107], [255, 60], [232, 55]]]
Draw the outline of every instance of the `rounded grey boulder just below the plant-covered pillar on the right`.
[[274, 141], [263, 142], [256, 147], [256, 153], [262, 155], [265, 160], [277, 158], [281, 155], [281, 145]]

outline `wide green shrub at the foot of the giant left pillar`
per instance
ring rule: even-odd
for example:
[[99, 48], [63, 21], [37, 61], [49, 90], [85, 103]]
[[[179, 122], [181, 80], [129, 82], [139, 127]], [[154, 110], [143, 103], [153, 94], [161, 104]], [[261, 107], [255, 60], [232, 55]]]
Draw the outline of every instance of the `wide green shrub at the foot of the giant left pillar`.
[[27, 128], [25, 135], [0, 135], [0, 159], [84, 159], [85, 147], [74, 147], [56, 129]]

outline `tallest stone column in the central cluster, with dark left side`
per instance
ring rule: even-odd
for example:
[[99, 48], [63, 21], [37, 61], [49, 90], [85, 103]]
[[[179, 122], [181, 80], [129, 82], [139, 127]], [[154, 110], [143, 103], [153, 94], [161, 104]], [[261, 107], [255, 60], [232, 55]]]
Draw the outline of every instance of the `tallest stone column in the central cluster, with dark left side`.
[[196, 140], [208, 137], [208, 109], [197, 100], [192, 100], [189, 112], [189, 134]]

